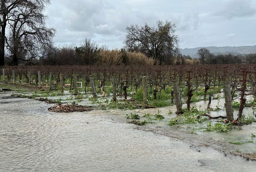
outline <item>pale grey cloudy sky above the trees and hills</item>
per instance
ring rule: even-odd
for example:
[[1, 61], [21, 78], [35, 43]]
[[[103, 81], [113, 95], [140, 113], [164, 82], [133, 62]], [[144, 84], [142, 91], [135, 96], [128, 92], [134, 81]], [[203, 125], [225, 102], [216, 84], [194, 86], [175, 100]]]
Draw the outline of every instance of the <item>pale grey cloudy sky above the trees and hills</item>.
[[127, 26], [157, 20], [176, 25], [180, 48], [256, 45], [256, 0], [51, 0], [46, 14], [56, 45], [122, 48]]

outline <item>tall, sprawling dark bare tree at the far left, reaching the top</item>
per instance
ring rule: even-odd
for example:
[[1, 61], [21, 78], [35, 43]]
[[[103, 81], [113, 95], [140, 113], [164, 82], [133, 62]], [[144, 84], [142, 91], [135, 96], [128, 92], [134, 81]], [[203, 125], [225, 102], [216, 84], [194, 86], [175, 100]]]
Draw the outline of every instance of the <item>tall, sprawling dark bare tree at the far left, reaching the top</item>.
[[55, 30], [45, 27], [47, 4], [50, 0], [1, 0], [0, 65], [4, 65], [5, 44], [11, 51], [12, 64], [17, 65], [19, 59], [40, 57], [42, 47], [52, 43]]

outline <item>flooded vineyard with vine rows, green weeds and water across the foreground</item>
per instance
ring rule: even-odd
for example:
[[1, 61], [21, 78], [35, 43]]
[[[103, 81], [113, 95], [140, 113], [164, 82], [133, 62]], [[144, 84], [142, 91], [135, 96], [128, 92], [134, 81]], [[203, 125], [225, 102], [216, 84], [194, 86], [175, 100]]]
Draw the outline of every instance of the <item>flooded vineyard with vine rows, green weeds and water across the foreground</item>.
[[[0, 171], [255, 169], [254, 66], [3, 71]], [[226, 120], [224, 80], [234, 121]]]

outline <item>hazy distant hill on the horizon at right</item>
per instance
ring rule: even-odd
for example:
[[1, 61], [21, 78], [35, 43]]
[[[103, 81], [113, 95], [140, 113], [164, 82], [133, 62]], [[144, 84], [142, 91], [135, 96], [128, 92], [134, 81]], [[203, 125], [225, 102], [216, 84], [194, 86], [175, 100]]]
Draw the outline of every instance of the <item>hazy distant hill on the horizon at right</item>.
[[211, 53], [214, 54], [250, 54], [250, 53], [256, 53], [256, 45], [253, 46], [239, 46], [239, 47], [197, 47], [197, 48], [184, 48], [180, 49], [182, 55], [190, 55], [192, 58], [197, 58], [198, 55], [196, 54], [197, 50], [200, 48], [206, 48], [210, 50]]

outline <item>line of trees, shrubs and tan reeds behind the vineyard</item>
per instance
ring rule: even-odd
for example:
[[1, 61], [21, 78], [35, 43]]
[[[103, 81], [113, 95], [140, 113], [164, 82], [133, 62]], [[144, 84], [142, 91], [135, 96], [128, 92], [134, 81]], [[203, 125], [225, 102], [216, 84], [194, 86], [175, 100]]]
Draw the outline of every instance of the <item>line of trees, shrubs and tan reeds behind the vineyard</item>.
[[126, 27], [124, 48], [109, 50], [90, 38], [79, 46], [55, 46], [53, 27], [46, 27], [50, 0], [1, 0], [0, 66], [4, 65], [184, 65], [256, 63], [256, 54], [212, 54], [199, 49], [197, 59], [182, 55], [175, 24], [157, 21]]

